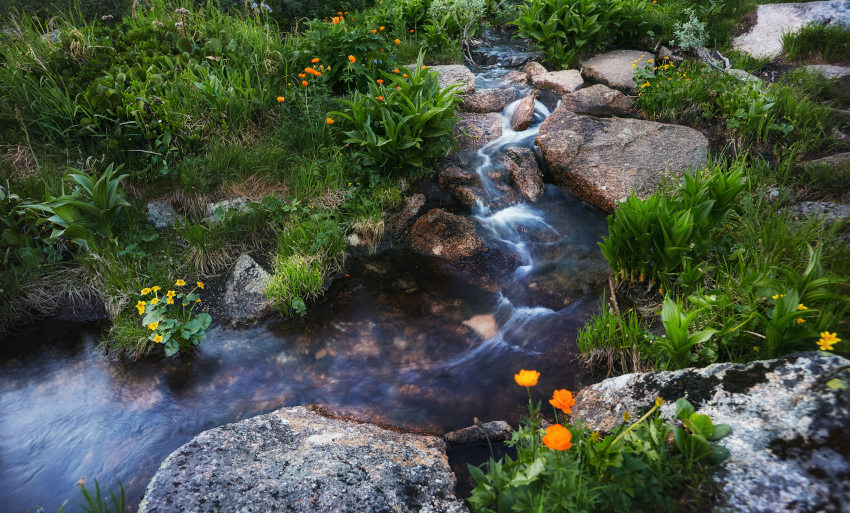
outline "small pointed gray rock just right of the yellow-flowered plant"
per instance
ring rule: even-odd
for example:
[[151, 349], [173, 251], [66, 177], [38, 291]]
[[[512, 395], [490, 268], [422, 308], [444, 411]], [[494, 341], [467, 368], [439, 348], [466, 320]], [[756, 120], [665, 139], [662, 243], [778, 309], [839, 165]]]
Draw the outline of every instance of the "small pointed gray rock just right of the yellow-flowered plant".
[[269, 273], [247, 254], [236, 260], [222, 298], [224, 320], [241, 325], [260, 319], [269, 309], [266, 284]]

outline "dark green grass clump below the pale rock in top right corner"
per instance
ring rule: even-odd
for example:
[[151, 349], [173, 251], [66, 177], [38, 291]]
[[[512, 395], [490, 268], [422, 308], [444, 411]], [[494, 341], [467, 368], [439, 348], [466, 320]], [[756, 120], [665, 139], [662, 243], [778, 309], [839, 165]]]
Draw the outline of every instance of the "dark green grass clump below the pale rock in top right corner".
[[850, 27], [813, 23], [782, 34], [782, 50], [792, 61], [845, 61], [850, 59]]

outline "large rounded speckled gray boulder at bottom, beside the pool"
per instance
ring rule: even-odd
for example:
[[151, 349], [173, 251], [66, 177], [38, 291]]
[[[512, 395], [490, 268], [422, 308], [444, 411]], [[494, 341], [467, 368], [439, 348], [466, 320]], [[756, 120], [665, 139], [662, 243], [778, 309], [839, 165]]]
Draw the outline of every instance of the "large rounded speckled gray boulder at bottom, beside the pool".
[[171, 453], [139, 512], [463, 513], [445, 445], [284, 408]]

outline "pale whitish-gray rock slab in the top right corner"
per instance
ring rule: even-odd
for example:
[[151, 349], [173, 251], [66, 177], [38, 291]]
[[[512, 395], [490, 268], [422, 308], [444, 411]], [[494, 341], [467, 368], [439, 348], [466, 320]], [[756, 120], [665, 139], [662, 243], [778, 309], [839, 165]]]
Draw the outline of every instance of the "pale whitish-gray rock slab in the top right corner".
[[773, 59], [782, 53], [785, 32], [809, 23], [850, 24], [850, 0], [760, 5], [756, 17], [756, 24], [733, 39], [732, 46], [757, 59]]

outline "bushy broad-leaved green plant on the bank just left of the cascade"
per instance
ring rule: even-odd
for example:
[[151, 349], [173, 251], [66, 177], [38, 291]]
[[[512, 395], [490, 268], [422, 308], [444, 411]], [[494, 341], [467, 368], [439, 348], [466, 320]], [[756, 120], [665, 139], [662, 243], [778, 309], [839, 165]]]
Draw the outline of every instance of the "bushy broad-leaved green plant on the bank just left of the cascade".
[[451, 146], [456, 86], [440, 88], [422, 59], [412, 71], [382, 73], [381, 83], [370, 82], [368, 93], [355, 92], [344, 111], [329, 114], [353, 125], [345, 142], [369, 169], [413, 174]]

